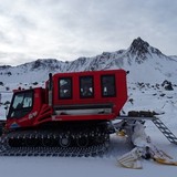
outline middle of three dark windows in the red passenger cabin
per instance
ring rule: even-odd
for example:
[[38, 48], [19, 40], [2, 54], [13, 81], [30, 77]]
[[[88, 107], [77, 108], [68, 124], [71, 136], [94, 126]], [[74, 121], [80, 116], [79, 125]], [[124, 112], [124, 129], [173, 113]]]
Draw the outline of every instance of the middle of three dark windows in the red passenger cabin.
[[81, 98], [94, 96], [93, 76], [80, 77], [80, 96]]

